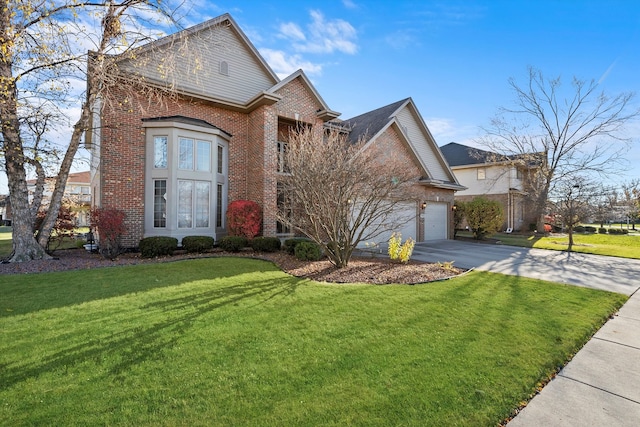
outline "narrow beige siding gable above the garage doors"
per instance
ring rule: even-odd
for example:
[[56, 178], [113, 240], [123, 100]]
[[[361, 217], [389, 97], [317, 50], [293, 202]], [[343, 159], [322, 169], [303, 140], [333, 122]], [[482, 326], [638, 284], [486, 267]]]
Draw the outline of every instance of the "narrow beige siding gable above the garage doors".
[[454, 181], [440, 162], [440, 153], [437, 148], [434, 148], [433, 137], [423, 130], [423, 126], [420, 125], [421, 120], [407, 106], [398, 111], [396, 119], [408, 137], [413, 151], [426, 167], [430, 178]]

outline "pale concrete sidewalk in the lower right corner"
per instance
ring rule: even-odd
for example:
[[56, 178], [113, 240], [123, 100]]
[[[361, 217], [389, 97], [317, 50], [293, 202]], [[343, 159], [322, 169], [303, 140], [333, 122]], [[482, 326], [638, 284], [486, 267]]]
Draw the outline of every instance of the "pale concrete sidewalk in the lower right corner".
[[510, 423], [640, 425], [640, 293], [608, 321]]

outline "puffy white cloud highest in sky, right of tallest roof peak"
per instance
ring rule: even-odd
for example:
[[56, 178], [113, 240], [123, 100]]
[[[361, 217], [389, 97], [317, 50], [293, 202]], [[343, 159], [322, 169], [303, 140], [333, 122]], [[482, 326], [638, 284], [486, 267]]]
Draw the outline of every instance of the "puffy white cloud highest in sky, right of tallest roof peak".
[[326, 20], [324, 15], [316, 10], [311, 11], [310, 14], [312, 22], [307, 25], [307, 35], [295, 23], [285, 23], [280, 26], [280, 36], [291, 40], [296, 51], [304, 53], [337, 51], [350, 55], [358, 51], [355, 43], [356, 30], [351, 24], [342, 19]]

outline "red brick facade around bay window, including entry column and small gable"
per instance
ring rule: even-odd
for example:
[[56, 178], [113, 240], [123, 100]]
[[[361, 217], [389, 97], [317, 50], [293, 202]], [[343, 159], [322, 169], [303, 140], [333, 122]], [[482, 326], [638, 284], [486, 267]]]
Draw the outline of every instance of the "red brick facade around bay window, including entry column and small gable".
[[101, 121], [100, 146], [102, 181], [99, 200], [126, 213], [126, 247], [136, 247], [144, 237], [146, 139], [142, 119], [184, 116], [204, 120], [232, 135], [229, 142], [229, 202], [248, 199], [263, 208], [263, 234], [276, 234], [277, 141], [281, 119], [304, 122], [322, 129], [316, 111], [321, 107], [308, 88], [297, 79], [283, 86], [282, 99], [250, 113], [224, 109], [205, 101], [168, 100], [151, 104], [114, 94], [118, 103], [105, 109]]

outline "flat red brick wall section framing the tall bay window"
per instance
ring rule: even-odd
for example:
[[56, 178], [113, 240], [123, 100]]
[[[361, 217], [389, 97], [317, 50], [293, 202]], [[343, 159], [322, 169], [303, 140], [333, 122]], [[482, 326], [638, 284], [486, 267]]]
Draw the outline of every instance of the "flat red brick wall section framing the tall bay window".
[[186, 99], [150, 103], [125, 94], [110, 103], [102, 114], [101, 194], [102, 206], [126, 212], [126, 247], [135, 247], [144, 233], [145, 129], [143, 118], [181, 115], [205, 120], [230, 133], [229, 201], [247, 198], [248, 116], [210, 103]]

